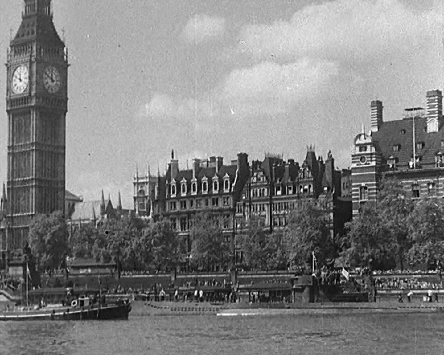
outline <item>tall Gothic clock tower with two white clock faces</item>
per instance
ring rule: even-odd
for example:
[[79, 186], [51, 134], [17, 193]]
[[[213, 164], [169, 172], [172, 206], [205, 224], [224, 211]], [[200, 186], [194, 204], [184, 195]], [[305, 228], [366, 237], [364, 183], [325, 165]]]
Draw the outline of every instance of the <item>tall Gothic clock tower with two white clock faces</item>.
[[8, 51], [7, 250], [24, 246], [36, 214], [64, 210], [67, 52], [51, 0], [24, 0]]

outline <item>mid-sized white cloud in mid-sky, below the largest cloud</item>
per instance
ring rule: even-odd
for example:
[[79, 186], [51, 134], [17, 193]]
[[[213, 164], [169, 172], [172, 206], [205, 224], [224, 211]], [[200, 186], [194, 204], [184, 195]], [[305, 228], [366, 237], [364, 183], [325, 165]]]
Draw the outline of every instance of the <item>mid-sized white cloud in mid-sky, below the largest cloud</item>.
[[234, 115], [286, 113], [318, 95], [337, 74], [337, 65], [327, 61], [302, 58], [285, 65], [263, 62], [232, 71], [221, 96]]

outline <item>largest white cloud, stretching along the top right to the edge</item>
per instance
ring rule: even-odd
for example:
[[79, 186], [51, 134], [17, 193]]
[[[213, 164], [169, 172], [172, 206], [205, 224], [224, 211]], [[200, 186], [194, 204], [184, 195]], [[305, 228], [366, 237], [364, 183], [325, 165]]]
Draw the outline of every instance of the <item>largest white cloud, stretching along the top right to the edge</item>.
[[403, 55], [439, 39], [438, 8], [414, 13], [396, 0], [337, 0], [310, 5], [289, 21], [246, 25], [235, 53], [254, 60], [372, 60]]

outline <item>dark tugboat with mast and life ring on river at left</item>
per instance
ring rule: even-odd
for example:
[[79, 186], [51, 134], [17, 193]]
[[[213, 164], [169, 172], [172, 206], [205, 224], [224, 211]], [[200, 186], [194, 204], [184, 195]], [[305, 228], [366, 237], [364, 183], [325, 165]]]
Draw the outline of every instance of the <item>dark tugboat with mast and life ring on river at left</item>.
[[0, 321], [128, 319], [129, 312], [128, 298], [107, 303], [100, 290], [47, 288], [30, 291], [26, 306], [0, 310]]

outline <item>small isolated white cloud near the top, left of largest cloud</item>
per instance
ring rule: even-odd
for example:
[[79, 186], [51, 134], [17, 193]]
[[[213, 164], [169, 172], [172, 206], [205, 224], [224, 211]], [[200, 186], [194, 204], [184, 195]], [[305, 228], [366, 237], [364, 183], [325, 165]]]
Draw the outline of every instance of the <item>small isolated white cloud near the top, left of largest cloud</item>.
[[223, 35], [225, 19], [215, 16], [196, 15], [186, 23], [182, 39], [188, 43], [202, 43], [208, 39]]

